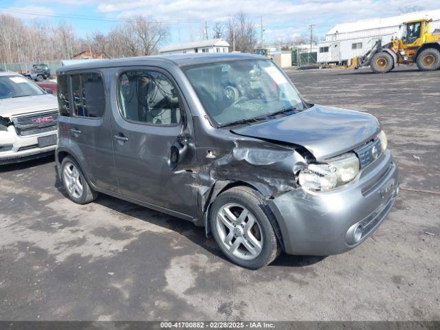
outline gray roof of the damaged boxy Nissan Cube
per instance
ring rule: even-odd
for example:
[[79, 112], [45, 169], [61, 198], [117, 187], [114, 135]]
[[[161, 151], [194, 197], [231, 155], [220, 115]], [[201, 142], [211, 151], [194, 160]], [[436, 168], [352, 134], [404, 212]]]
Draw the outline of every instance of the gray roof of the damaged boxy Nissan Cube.
[[74, 65], [66, 65], [56, 70], [57, 74], [63, 74], [69, 71], [76, 71], [81, 69], [100, 69], [106, 67], [125, 67], [136, 65], [177, 65], [179, 67], [187, 65], [207, 64], [221, 61], [239, 61], [239, 60], [267, 60], [264, 56], [256, 54], [241, 54], [241, 53], [192, 53], [192, 54], [169, 54], [169, 55], [155, 55], [155, 56], [138, 56], [116, 58], [113, 60], [103, 61], [89, 61]]

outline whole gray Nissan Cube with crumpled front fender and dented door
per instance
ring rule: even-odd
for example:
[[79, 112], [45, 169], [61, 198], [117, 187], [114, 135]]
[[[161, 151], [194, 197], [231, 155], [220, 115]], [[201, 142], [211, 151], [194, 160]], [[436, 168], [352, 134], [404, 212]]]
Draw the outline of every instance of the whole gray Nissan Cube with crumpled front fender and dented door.
[[305, 102], [262, 56], [122, 58], [57, 74], [56, 164], [70, 199], [102, 192], [192, 221], [237, 265], [346, 252], [395, 202], [377, 119]]

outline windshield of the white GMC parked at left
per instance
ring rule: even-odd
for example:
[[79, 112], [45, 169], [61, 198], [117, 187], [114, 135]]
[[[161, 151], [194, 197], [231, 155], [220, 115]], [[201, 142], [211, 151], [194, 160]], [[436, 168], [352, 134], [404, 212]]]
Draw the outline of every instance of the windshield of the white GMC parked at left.
[[45, 94], [38, 86], [21, 76], [0, 76], [0, 99]]

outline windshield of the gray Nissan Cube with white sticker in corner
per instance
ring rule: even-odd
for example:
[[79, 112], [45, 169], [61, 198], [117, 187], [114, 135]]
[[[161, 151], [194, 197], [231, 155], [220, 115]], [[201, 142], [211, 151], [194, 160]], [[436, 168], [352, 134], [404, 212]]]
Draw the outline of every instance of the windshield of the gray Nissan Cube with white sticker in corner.
[[206, 112], [219, 126], [305, 109], [294, 85], [272, 61], [210, 63], [184, 71]]

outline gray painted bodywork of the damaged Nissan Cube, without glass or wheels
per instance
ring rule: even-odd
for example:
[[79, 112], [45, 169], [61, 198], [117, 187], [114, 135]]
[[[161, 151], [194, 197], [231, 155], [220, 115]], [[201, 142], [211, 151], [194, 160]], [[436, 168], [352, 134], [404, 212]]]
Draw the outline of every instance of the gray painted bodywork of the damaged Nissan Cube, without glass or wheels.
[[[112, 141], [114, 155], [111, 161], [109, 150], [107, 157], [87, 154], [72, 133], [59, 134], [58, 166], [65, 155], [71, 155], [95, 190], [203, 225], [207, 235], [210, 234], [208, 212], [215, 197], [230, 186], [248, 185], [267, 200], [268, 212], [274, 214], [271, 221], [286, 252], [324, 255], [353, 248], [354, 245], [344, 239], [351, 225], [387, 205], [386, 212], [378, 218], [377, 228], [393, 205], [398, 177], [391, 153], [386, 151], [380, 159], [362, 169], [355, 180], [331, 192], [305, 192], [297, 186], [295, 174], [314, 158], [339, 155], [368, 142], [380, 130], [377, 120], [364, 113], [315, 105], [263, 124], [217, 129], [210, 123], [181, 67], [249, 59], [263, 58], [247, 54], [151, 56], [58, 69], [57, 74], [90, 70], [102, 73], [107, 95], [102, 120], [110, 129], [99, 133], [92, 133], [94, 129], [91, 129], [84, 139], [93, 141], [96, 146]], [[135, 67], [157, 68], [174, 80], [184, 102], [182, 109], [186, 118], [179, 126], [157, 127], [122, 119], [116, 100], [116, 82], [121, 70]], [[60, 122], [60, 129], [64, 131], [78, 124], [74, 117], [62, 118]], [[84, 124], [87, 125], [87, 119]], [[95, 135], [92, 137], [92, 134]], [[124, 144], [115, 142], [113, 137], [118, 134], [127, 135], [129, 140]], [[179, 136], [186, 137], [188, 142], [179, 144]], [[186, 154], [177, 167], [171, 169], [166, 158], [170, 147], [176, 144], [184, 148]], [[385, 172], [385, 177], [379, 175]], [[109, 184], [100, 183], [96, 173], [109, 176]], [[367, 198], [362, 195], [362, 189], [369, 185], [373, 185], [369, 191], [373, 197]], [[392, 193], [384, 200], [382, 192], [389, 186]]]

